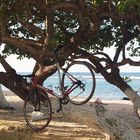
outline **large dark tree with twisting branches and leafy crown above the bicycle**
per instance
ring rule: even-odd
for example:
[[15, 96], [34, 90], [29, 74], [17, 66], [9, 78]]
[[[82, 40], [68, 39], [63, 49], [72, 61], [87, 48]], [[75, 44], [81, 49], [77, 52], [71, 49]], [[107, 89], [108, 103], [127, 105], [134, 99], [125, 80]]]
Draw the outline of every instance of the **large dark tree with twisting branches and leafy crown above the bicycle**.
[[[63, 44], [62, 65], [69, 56], [88, 59], [96, 73], [140, 107], [139, 96], [120, 75], [120, 66], [140, 66], [126, 55], [140, 55], [134, 45], [140, 42], [139, 0], [0, 0], [0, 41], [6, 44], [0, 56], [6, 72], [0, 72], [0, 83], [22, 99], [28, 89], [5, 56], [34, 58], [34, 73], [42, 84], [54, 63], [52, 49]], [[110, 46], [115, 49], [113, 59], [103, 52]]]

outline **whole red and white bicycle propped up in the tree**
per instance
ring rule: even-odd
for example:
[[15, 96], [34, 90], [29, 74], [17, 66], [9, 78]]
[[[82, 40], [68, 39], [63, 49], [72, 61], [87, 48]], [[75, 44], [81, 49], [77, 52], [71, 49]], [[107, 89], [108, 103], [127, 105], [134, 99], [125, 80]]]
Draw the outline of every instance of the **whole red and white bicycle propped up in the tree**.
[[[30, 92], [24, 102], [23, 112], [27, 125], [34, 131], [43, 130], [51, 120], [52, 107], [49, 95], [53, 95], [59, 99], [59, 109], [57, 111], [60, 111], [62, 110], [62, 104], [67, 104], [68, 102], [74, 105], [87, 103], [95, 91], [95, 75], [91, 64], [86, 61], [72, 61], [66, 68], [63, 68], [58, 61], [58, 54], [61, 49], [62, 46], [58, 46], [53, 50], [61, 94], [58, 94], [53, 89], [38, 85], [34, 76], [23, 76], [31, 77]], [[86, 71], [88, 75], [76, 72], [79, 68]], [[38, 114], [38, 116], [43, 114], [44, 117], [33, 121], [34, 114]]]

